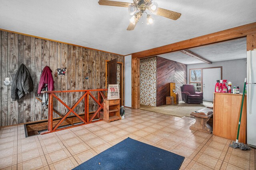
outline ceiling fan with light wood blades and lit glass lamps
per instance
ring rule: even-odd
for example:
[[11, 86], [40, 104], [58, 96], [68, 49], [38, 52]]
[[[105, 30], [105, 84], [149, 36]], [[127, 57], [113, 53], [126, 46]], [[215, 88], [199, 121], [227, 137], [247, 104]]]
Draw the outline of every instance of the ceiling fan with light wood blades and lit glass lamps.
[[147, 24], [151, 24], [154, 22], [154, 19], [146, 12], [148, 9], [152, 14], [163, 16], [168, 19], [177, 20], [180, 18], [181, 14], [178, 12], [166, 10], [164, 8], [159, 8], [156, 2], [152, 2], [152, 0], [133, 0], [132, 3], [127, 2], [117, 2], [110, 0], [99, 0], [100, 5], [106, 6], [119, 6], [119, 7], [128, 7], [128, 12], [132, 15], [130, 19], [130, 24], [127, 27], [128, 31], [134, 30], [137, 22], [139, 21], [142, 14], [146, 13], [147, 15]]

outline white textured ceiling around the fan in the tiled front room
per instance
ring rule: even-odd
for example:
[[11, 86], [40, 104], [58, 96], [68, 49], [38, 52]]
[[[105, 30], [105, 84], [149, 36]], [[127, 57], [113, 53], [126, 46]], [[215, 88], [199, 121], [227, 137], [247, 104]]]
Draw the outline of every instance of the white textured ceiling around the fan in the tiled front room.
[[255, 0], [154, 1], [182, 16], [126, 31], [127, 8], [98, 0], [0, 0], [0, 28], [127, 55], [256, 21]]

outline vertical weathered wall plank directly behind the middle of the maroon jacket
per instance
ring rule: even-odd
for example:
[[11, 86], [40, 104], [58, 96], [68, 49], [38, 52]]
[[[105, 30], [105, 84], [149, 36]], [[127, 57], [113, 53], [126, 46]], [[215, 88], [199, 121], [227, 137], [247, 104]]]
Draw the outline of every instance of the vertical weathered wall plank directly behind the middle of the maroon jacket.
[[[42, 66], [43, 70], [45, 66], [50, 66], [50, 41], [42, 39]], [[48, 117], [48, 107], [41, 107], [42, 119], [47, 119]]]

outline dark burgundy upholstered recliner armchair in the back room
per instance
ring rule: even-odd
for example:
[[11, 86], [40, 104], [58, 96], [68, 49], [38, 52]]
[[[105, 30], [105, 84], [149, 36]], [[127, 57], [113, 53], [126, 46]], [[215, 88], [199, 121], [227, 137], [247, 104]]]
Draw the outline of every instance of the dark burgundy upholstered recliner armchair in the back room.
[[201, 104], [203, 103], [203, 92], [196, 92], [195, 86], [191, 84], [183, 84], [180, 87], [182, 101], [190, 104]]

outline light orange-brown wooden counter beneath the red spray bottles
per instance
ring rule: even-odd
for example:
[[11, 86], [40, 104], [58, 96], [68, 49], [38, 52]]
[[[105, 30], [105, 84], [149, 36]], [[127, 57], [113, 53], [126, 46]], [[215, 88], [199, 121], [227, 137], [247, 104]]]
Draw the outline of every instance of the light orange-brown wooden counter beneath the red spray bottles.
[[[236, 141], [242, 96], [242, 94], [214, 93], [213, 135]], [[246, 143], [246, 95], [238, 141]]]

